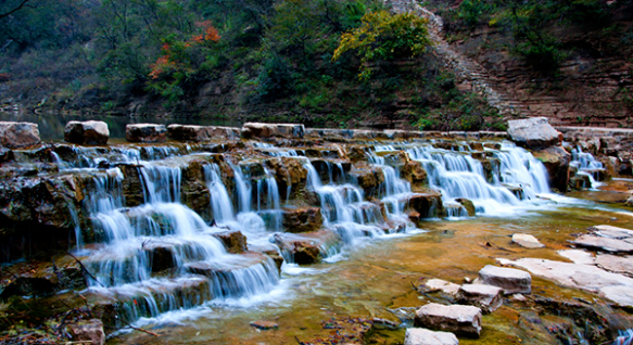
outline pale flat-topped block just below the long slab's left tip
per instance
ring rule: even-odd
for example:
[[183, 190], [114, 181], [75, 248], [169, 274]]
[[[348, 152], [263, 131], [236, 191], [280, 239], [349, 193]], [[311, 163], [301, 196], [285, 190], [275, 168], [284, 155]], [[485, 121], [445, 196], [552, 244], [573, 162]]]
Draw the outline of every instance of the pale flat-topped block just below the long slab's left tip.
[[532, 291], [532, 276], [530, 273], [492, 265], [486, 265], [479, 271], [479, 277], [474, 283], [502, 288], [507, 295], [529, 294]]

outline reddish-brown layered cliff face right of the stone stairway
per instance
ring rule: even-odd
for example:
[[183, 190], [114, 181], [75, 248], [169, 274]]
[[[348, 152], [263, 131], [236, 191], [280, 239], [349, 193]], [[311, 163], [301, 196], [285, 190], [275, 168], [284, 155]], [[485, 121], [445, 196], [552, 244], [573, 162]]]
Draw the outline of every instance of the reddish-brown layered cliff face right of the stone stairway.
[[521, 42], [511, 26], [516, 23], [495, 24], [495, 16], [507, 20], [510, 10], [497, 4], [490, 10], [495, 13], [466, 26], [463, 1], [448, 5], [431, 2], [430, 8], [444, 17], [442, 34], [451, 48], [470, 60], [467, 64], [477, 66], [461, 78], [460, 89], [469, 90], [483, 80], [517, 115], [545, 116], [554, 125], [633, 126], [631, 1], [605, 2], [607, 24], [597, 27], [592, 23], [562, 25], [562, 18], [542, 24], [539, 35], [552, 38], [560, 58], [549, 71], [537, 71], [527, 56], [517, 53]]

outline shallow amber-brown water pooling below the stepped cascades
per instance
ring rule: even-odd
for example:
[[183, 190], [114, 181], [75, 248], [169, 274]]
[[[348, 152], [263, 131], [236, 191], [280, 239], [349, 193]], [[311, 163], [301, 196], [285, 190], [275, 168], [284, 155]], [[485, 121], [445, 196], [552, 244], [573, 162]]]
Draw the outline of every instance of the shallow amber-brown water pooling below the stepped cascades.
[[[562, 201], [567, 202], [564, 204]], [[457, 221], [428, 221], [427, 232], [366, 240], [351, 248], [342, 260], [299, 270], [286, 269], [273, 293], [257, 301], [214, 301], [194, 310], [176, 311], [160, 320], [137, 324], [157, 332], [153, 337], [139, 332], [119, 334], [114, 344], [297, 344], [326, 336], [330, 330], [321, 321], [343, 317], [378, 317], [397, 321], [388, 310], [419, 307], [428, 301], [414, 291], [421, 278], [441, 278], [463, 283], [495, 258], [540, 257], [566, 260], [556, 251], [568, 248], [570, 234], [584, 232], [592, 225], [608, 223], [631, 228], [633, 213], [570, 199], [548, 202], [541, 210], [509, 218], [472, 218]], [[547, 209], [545, 209], [547, 208]], [[510, 243], [515, 232], [536, 237], [545, 248], [526, 250]], [[533, 277], [533, 294], [552, 298], [599, 297], [565, 289]], [[519, 314], [504, 306], [484, 316], [480, 340], [460, 338], [460, 344], [549, 344], [545, 328], [522, 325]], [[189, 319], [188, 317], [191, 318]], [[556, 317], [552, 317], [556, 318]], [[259, 331], [249, 323], [269, 320], [276, 330]], [[519, 322], [519, 323], [517, 323]], [[405, 328], [380, 331], [377, 344], [402, 344]], [[371, 341], [369, 342], [371, 343]]]

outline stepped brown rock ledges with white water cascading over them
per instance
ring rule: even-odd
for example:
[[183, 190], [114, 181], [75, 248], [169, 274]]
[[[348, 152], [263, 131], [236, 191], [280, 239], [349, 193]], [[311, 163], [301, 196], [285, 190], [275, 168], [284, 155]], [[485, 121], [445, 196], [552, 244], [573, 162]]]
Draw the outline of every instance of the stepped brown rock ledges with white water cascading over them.
[[[75, 290], [122, 327], [257, 299], [311, 274], [305, 265], [442, 220], [520, 217], [556, 199], [548, 168], [498, 138], [266, 130], [250, 127], [251, 140], [13, 150], [0, 168], [3, 261], [55, 261], [54, 274], [3, 278], [2, 298]], [[571, 166], [599, 168], [580, 151]], [[85, 267], [84, 283], [66, 251]]]

